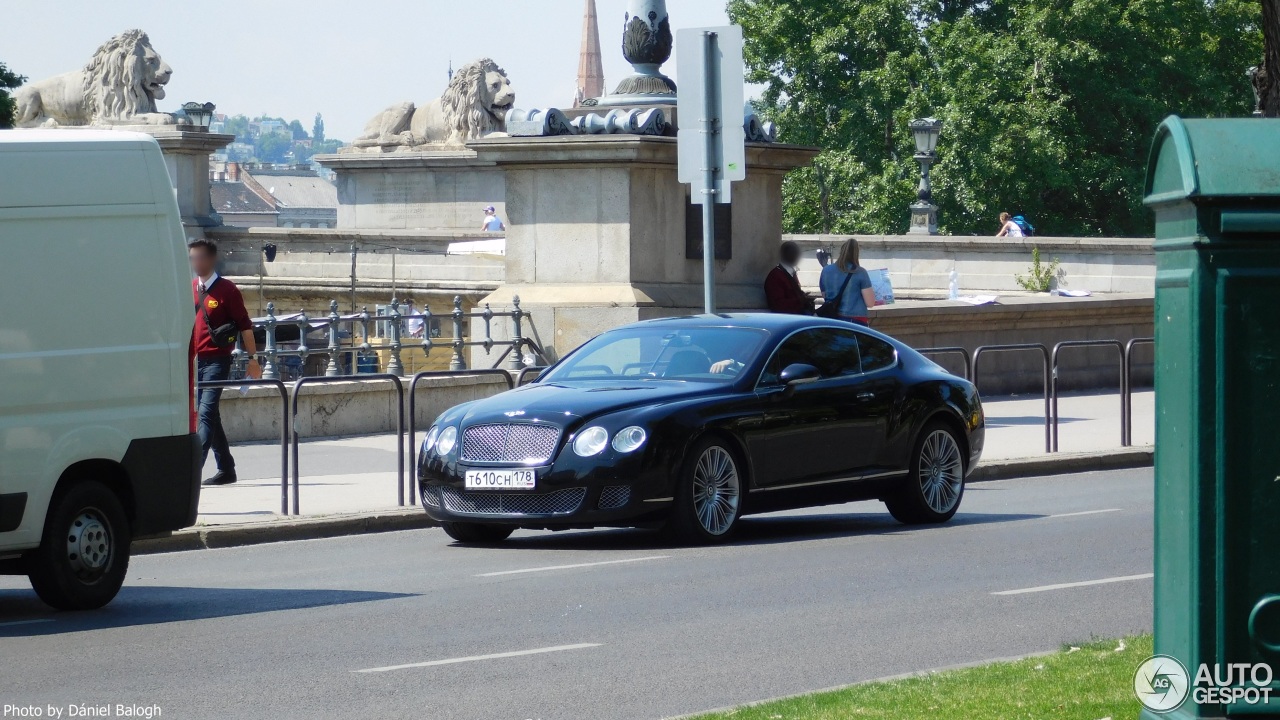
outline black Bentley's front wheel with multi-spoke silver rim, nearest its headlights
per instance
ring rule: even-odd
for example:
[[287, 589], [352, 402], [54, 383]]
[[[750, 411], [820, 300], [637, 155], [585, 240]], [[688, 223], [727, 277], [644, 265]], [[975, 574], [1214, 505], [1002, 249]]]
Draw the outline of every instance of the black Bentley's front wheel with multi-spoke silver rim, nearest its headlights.
[[700, 544], [730, 539], [742, 512], [741, 466], [733, 448], [719, 438], [694, 445], [677, 483], [668, 534]]

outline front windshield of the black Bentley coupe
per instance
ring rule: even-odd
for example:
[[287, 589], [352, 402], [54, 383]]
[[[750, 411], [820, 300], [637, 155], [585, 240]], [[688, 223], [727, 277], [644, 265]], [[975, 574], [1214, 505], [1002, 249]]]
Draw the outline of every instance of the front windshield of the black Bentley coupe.
[[728, 383], [755, 360], [765, 337], [754, 328], [626, 328], [589, 341], [543, 379]]

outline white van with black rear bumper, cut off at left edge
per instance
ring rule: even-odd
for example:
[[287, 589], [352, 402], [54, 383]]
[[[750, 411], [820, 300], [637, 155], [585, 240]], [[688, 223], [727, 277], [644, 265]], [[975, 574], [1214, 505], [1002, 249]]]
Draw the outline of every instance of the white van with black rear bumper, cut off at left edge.
[[54, 607], [196, 521], [186, 258], [152, 137], [0, 131], [0, 573]]

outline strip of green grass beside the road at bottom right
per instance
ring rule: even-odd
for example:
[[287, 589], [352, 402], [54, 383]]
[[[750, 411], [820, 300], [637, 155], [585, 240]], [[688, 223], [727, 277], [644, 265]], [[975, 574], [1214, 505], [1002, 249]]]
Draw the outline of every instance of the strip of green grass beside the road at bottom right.
[[1151, 652], [1151, 635], [1097, 641], [1041, 657], [852, 685], [696, 720], [1133, 720], [1139, 710], [1133, 673]]

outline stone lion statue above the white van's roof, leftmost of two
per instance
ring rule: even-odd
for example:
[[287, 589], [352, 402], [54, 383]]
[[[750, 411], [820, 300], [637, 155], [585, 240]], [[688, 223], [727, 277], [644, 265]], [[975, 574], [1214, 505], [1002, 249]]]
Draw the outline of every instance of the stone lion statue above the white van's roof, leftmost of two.
[[156, 110], [173, 68], [141, 29], [108, 40], [83, 69], [32, 82], [14, 92], [17, 127], [175, 124]]

